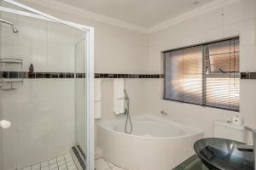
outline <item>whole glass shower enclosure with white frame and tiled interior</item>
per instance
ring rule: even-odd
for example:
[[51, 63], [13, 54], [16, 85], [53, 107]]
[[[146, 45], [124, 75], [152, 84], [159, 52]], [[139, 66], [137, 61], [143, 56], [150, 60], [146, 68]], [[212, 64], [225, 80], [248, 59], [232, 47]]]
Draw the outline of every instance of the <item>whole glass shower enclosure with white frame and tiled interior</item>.
[[95, 169], [93, 45], [90, 26], [0, 0], [0, 170]]

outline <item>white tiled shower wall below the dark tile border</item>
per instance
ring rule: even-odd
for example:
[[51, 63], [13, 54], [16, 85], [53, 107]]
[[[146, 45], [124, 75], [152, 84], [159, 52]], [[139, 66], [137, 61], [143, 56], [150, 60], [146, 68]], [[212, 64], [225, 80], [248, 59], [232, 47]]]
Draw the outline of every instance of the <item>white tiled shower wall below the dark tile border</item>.
[[17, 162], [22, 167], [70, 149], [74, 144], [73, 89], [73, 79], [25, 80], [15, 92], [3, 93], [3, 116], [14, 127], [3, 134], [6, 165]]

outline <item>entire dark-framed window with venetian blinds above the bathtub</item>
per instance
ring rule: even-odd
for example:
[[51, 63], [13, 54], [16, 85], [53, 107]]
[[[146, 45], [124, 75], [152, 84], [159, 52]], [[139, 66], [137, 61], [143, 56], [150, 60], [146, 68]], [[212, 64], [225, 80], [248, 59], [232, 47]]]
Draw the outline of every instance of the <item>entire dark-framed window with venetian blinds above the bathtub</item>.
[[165, 99], [239, 111], [239, 39], [165, 54]]

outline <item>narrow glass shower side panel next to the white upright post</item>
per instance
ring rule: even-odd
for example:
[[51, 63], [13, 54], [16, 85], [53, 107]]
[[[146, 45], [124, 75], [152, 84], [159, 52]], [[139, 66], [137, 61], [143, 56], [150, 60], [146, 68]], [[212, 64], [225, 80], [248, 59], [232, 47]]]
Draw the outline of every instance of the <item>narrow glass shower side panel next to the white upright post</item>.
[[86, 169], [94, 169], [94, 156], [90, 154], [94, 146], [91, 145], [91, 139], [89, 139], [94, 138], [93, 135], [90, 135], [90, 132], [93, 132], [90, 123], [93, 120], [90, 120], [88, 108], [90, 105], [89, 93], [92, 89], [89, 88], [88, 58], [84, 58], [89, 50], [86, 36], [75, 45], [75, 143]]

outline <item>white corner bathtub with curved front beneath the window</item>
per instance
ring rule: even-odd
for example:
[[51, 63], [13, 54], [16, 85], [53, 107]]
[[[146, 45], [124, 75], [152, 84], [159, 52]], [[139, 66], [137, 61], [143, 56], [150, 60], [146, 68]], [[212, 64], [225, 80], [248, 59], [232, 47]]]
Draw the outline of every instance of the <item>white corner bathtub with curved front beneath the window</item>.
[[163, 116], [131, 116], [133, 131], [125, 133], [123, 120], [97, 124], [98, 146], [113, 164], [129, 170], [171, 170], [195, 152], [203, 132]]

